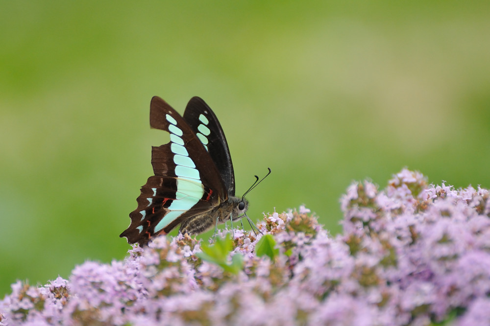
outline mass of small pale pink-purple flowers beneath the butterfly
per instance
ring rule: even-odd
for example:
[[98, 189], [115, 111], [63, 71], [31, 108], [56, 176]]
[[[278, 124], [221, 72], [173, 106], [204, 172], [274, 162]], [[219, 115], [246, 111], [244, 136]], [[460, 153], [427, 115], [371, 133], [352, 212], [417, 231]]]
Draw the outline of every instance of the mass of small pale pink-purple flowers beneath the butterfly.
[[[68, 280], [13, 284], [0, 325], [490, 325], [489, 195], [404, 169], [382, 191], [351, 185], [337, 236], [304, 207], [265, 216], [258, 236], [222, 231], [238, 273], [161, 236]], [[278, 251], [258, 256], [265, 235]]]

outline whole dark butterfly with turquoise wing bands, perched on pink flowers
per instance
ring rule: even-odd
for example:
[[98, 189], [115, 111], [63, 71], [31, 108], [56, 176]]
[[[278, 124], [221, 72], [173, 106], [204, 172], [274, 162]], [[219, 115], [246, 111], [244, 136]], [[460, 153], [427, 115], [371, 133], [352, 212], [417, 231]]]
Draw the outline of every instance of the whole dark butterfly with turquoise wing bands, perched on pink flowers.
[[141, 187], [138, 207], [129, 214], [131, 223], [120, 237], [144, 246], [179, 224], [181, 233], [197, 234], [244, 216], [248, 201], [235, 196], [235, 174], [223, 129], [201, 98], [191, 98], [180, 116], [154, 96], [150, 126], [169, 132], [170, 142], [152, 146], [155, 175]]

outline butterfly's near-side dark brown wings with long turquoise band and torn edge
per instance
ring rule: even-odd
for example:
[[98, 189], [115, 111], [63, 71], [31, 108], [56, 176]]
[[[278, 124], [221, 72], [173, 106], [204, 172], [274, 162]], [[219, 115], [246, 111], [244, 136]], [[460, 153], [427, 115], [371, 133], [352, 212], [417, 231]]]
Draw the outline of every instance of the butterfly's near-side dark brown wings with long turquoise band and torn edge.
[[188, 123], [161, 98], [150, 105], [150, 126], [170, 133], [170, 142], [153, 146], [154, 176], [148, 178], [121, 233], [129, 243], [144, 245], [155, 234], [169, 233], [187, 218], [226, 201], [226, 188], [209, 153]]

